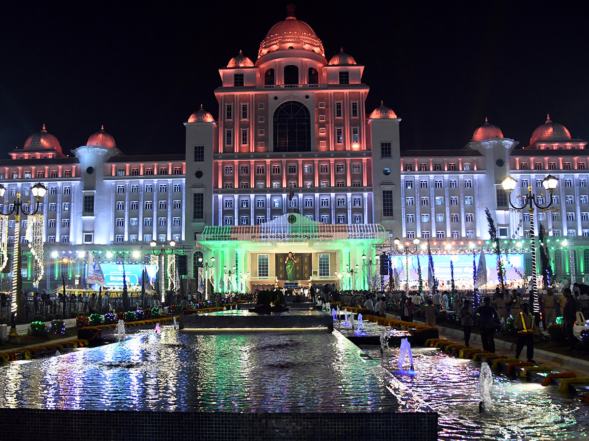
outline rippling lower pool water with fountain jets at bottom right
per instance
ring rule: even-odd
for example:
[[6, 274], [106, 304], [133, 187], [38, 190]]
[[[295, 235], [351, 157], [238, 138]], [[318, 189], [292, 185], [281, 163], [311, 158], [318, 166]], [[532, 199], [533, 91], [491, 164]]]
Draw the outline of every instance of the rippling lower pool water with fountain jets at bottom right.
[[363, 348], [409, 390], [439, 413], [440, 440], [567, 440], [589, 434], [589, 406], [555, 387], [494, 377], [493, 409], [479, 414], [480, 364], [439, 350], [413, 349], [415, 375], [398, 372], [399, 348]]

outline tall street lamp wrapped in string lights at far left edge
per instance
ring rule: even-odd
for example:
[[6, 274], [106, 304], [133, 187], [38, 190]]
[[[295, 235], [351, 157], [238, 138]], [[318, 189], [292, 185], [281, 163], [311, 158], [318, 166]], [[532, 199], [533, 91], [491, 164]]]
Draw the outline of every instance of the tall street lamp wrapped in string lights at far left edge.
[[[0, 184], [0, 198], [4, 197], [4, 193], [6, 192], [6, 187]], [[8, 342], [11, 343], [18, 343], [20, 341], [18, 337], [18, 333], [16, 332], [16, 309], [18, 308], [18, 295], [22, 289], [22, 280], [21, 280], [21, 252], [19, 250], [19, 245], [21, 243], [20, 237], [20, 227], [21, 227], [21, 213], [25, 216], [32, 216], [37, 214], [39, 209], [41, 208], [41, 198], [45, 196], [47, 193], [47, 188], [42, 185], [41, 182], [35, 184], [31, 188], [31, 194], [35, 197], [35, 209], [31, 211], [30, 209], [26, 211], [23, 208], [23, 203], [21, 201], [21, 193], [16, 193], [16, 201], [13, 203], [13, 207], [8, 212], [4, 213], [0, 211], [1, 214], [5, 216], [9, 216], [14, 213], [15, 224], [14, 224], [14, 252], [12, 255], [12, 293], [11, 293], [11, 305], [10, 311], [12, 314], [12, 325], [10, 328], [10, 333], [8, 334]], [[24, 305], [23, 305], [24, 306]]]

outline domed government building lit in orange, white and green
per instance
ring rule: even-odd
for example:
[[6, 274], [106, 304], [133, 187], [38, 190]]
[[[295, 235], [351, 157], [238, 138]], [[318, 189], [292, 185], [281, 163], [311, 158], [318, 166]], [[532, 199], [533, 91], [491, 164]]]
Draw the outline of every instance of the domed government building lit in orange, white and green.
[[[354, 55], [361, 60], [362, 54]], [[9, 204], [16, 193], [32, 203], [37, 182], [48, 188], [39, 288], [57, 288], [62, 275], [73, 285], [76, 273], [83, 273], [76, 252], [100, 252], [104, 262], [143, 263], [151, 240], [175, 240], [192, 280], [214, 257], [214, 272], [207, 273], [223, 291], [245, 286], [233, 276], [230, 287], [226, 270], [238, 278], [249, 273], [251, 285], [282, 283], [288, 252], [299, 258], [297, 281], [342, 278], [342, 288], [366, 288], [366, 263], [394, 248], [395, 237], [429, 241], [438, 258], [465, 256], [472, 280], [472, 245], [478, 250], [479, 241], [489, 238], [485, 208], [505, 248], [521, 256], [514, 266], [530, 275], [530, 219], [527, 211], [508, 211], [501, 187], [508, 172], [522, 193], [531, 185], [541, 203], [548, 197], [541, 180], [549, 172], [557, 176], [552, 207], [537, 211], [537, 225], [550, 236], [557, 275], [570, 274], [571, 263], [577, 276], [584, 273], [586, 141], [572, 139], [548, 118], [524, 148], [484, 122], [465, 147], [465, 140], [456, 140], [451, 151], [406, 149], [399, 142], [401, 118], [392, 109], [366, 110], [363, 71], [343, 50], [326, 58], [313, 29], [289, 11], [263, 39], [256, 62], [239, 51], [219, 69], [219, 118], [202, 107], [193, 113], [178, 154], [124, 155], [125, 147], [119, 149], [104, 129], [71, 156], [62, 153], [50, 127], [29, 136], [0, 161], [0, 179], [7, 188], [2, 202]], [[27, 220], [21, 222], [22, 236], [15, 238], [14, 220], [8, 220], [8, 253], [14, 240], [28, 251]], [[64, 254], [74, 262], [62, 262]], [[402, 273], [403, 256], [394, 262]], [[24, 288], [31, 288], [30, 253], [21, 268]], [[378, 265], [373, 268], [378, 272]], [[358, 271], [353, 282], [349, 271]]]

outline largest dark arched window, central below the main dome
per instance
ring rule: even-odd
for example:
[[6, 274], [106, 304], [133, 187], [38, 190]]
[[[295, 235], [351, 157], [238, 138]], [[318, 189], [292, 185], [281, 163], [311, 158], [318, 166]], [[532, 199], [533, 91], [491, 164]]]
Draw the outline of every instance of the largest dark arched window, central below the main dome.
[[300, 102], [287, 101], [274, 111], [274, 152], [310, 152], [311, 116]]

